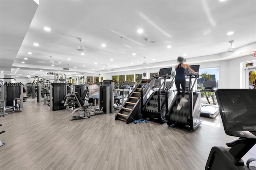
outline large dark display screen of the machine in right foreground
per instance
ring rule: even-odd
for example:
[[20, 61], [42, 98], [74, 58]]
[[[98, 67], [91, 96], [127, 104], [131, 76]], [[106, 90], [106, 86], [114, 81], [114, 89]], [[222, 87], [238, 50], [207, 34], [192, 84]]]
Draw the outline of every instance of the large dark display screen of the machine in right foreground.
[[226, 134], [256, 138], [256, 90], [217, 89], [215, 94]]

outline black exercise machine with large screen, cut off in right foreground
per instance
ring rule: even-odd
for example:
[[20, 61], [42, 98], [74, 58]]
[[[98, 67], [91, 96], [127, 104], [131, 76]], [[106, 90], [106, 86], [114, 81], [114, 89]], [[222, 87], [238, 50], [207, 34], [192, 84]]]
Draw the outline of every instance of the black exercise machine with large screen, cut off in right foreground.
[[242, 160], [256, 144], [256, 90], [217, 89], [215, 94], [225, 133], [239, 139], [228, 142], [229, 148], [214, 146], [205, 170], [256, 170], [250, 165], [256, 158], [248, 159], [246, 165]]

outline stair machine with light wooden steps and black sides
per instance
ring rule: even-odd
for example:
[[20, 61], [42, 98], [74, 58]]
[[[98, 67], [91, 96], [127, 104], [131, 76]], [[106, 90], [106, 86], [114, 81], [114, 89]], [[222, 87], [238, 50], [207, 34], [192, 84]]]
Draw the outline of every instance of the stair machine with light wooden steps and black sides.
[[125, 103], [115, 115], [115, 120], [125, 121], [127, 124], [141, 119], [141, 106], [147, 101], [147, 95], [155, 83], [153, 75], [150, 79], [142, 79], [128, 95]]

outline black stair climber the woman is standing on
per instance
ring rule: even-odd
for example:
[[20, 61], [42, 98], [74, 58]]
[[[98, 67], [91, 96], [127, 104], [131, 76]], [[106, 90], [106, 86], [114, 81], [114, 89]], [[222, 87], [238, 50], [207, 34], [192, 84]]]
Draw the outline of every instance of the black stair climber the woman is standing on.
[[[190, 65], [194, 71], [199, 71], [199, 65]], [[189, 79], [188, 91], [185, 92], [185, 98], [188, 103], [185, 107], [177, 110], [178, 103], [180, 102], [181, 96], [178, 93], [174, 96], [172, 104], [168, 113], [166, 113], [166, 123], [169, 127], [179, 126], [188, 128], [189, 132], [196, 130], [200, 125], [200, 113], [201, 113], [201, 93], [193, 91], [194, 85], [198, 78], [198, 74], [191, 73], [188, 69], [185, 71], [186, 79]]]

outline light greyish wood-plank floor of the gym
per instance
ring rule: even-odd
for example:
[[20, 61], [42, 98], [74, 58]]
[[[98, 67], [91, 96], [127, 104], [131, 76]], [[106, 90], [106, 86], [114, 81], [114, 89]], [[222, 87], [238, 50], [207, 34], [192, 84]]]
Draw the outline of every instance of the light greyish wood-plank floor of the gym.
[[[0, 118], [1, 170], [203, 170], [213, 146], [226, 146], [220, 116], [202, 117], [194, 132], [166, 123], [115, 121], [101, 114], [69, 121], [72, 110], [36, 101]], [[243, 160], [256, 157], [256, 146]]]

